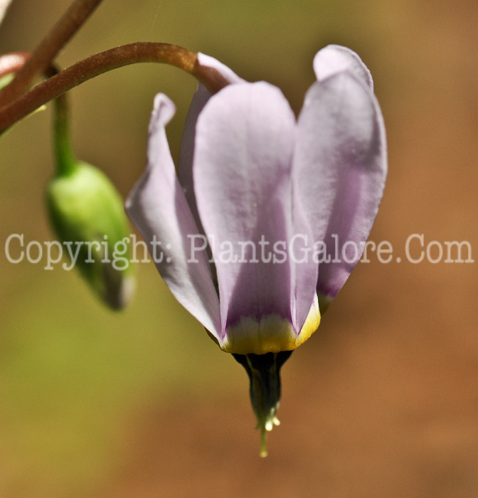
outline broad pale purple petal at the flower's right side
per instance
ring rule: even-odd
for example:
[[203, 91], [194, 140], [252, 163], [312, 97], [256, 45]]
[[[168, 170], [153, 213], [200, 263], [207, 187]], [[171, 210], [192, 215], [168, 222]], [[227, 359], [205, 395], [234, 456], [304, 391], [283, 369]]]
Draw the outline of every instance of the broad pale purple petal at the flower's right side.
[[312, 85], [299, 116], [294, 174], [314, 240], [340, 260], [319, 263], [317, 290], [330, 299], [363, 252], [386, 171], [383, 119], [369, 89], [348, 72]]

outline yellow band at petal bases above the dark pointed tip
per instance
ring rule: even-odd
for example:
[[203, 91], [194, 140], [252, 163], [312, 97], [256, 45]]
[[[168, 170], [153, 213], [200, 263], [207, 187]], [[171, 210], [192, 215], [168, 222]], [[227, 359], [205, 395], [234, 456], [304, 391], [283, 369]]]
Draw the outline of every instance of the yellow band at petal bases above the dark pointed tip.
[[266, 354], [292, 351], [319, 328], [320, 311], [317, 298], [310, 307], [309, 314], [299, 334], [289, 320], [278, 314], [262, 317], [260, 322], [244, 317], [234, 327], [228, 327], [221, 349], [235, 354]]

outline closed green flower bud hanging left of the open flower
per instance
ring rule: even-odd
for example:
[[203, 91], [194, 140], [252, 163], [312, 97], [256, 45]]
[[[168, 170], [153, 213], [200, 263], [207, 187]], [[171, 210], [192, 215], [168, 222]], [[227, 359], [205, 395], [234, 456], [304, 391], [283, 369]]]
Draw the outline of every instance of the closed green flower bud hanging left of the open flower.
[[71, 161], [48, 185], [47, 203], [65, 253], [92, 290], [113, 309], [124, 307], [134, 289], [129, 223], [110, 179]]

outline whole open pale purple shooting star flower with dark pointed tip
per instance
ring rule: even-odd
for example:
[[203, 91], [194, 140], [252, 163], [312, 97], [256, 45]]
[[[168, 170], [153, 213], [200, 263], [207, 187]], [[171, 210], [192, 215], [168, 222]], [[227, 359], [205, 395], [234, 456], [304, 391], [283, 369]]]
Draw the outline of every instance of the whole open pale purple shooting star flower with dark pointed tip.
[[248, 372], [265, 454], [280, 366], [319, 327], [376, 218], [385, 129], [370, 72], [348, 48], [317, 53], [297, 119], [275, 86], [198, 60], [230, 85], [198, 86], [177, 176], [165, 132], [174, 104], [156, 95], [127, 213], [176, 299]]

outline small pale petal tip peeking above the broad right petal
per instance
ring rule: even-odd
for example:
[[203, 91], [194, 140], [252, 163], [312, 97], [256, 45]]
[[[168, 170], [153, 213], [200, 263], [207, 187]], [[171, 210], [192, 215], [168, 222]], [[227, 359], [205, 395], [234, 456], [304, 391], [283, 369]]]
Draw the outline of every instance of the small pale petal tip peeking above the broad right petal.
[[350, 48], [340, 45], [328, 45], [314, 57], [314, 72], [318, 81], [342, 71], [349, 71], [363, 81], [373, 92], [373, 79], [367, 66]]

